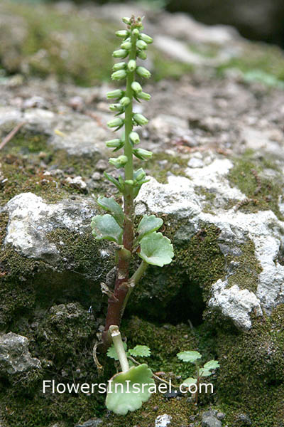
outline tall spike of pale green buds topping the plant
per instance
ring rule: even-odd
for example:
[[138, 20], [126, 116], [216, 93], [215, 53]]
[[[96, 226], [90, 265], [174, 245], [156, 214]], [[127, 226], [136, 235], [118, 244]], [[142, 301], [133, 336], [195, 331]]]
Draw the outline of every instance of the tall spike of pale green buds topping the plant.
[[[133, 127], [147, 125], [148, 119], [140, 113], [133, 112], [133, 99], [138, 102], [151, 99], [151, 95], [143, 92], [141, 83], [136, 81], [136, 75], [138, 78], [148, 79], [151, 77], [151, 73], [145, 67], [137, 65], [136, 61], [138, 58], [142, 60], [147, 58], [146, 50], [153, 39], [147, 34], [141, 33], [143, 30], [141, 18], [135, 19], [134, 16], [131, 16], [131, 18], [123, 18], [122, 21], [126, 23], [127, 29], [116, 31], [116, 36], [122, 38], [122, 43], [119, 49], [114, 51], [113, 56], [120, 59], [128, 58], [128, 60], [114, 64], [111, 78], [113, 80], [126, 79], [126, 89], [111, 90], [107, 93], [107, 98], [114, 102], [109, 105], [109, 109], [116, 113], [116, 117], [110, 120], [107, 125], [114, 130], [124, 127], [123, 135], [120, 138], [111, 139], [106, 143], [107, 147], [113, 148], [114, 152], [124, 148], [124, 154], [109, 159], [109, 163], [116, 168], [126, 167], [129, 162], [132, 166], [132, 155], [141, 160], [148, 160], [152, 156], [152, 152], [146, 149], [134, 148], [139, 144], [140, 137], [137, 132], [133, 131]], [[131, 161], [129, 157], [131, 157]], [[125, 176], [124, 184], [140, 188], [141, 184], [146, 181], [145, 172], [143, 172], [143, 179], [139, 180], [138, 176], [142, 176], [141, 170], [143, 169], [138, 169], [140, 172], [138, 176], [137, 171], [132, 170], [131, 172], [130, 169], [128, 176]], [[109, 179], [108, 174], [105, 176]], [[121, 190], [122, 180], [119, 179], [119, 181], [120, 183], [117, 182], [116, 186]], [[111, 182], [115, 184], [113, 178], [111, 178]]]

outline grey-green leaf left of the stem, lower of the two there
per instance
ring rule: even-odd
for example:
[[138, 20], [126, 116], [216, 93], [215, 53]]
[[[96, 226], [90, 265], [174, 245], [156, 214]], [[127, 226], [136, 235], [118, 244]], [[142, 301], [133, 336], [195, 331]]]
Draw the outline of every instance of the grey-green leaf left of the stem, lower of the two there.
[[113, 216], [109, 214], [94, 216], [91, 227], [93, 229], [92, 233], [97, 240], [104, 238], [121, 245], [123, 230]]

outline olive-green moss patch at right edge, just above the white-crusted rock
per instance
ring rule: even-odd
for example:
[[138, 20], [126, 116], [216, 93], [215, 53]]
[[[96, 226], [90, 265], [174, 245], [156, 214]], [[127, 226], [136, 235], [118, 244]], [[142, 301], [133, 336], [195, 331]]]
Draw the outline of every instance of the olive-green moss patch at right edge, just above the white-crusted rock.
[[[275, 177], [265, 176], [266, 169], [273, 169]], [[283, 179], [278, 167], [269, 159], [255, 158], [251, 152], [246, 152], [241, 158], [234, 159], [234, 167], [228, 175], [232, 186], [237, 186], [246, 194], [248, 201], [240, 206], [244, 212], [271, 210], [283, 221], [280, 213], [278, 198], [283, 193]], [[228, 206], [231, 207], [231, 204]]]

